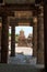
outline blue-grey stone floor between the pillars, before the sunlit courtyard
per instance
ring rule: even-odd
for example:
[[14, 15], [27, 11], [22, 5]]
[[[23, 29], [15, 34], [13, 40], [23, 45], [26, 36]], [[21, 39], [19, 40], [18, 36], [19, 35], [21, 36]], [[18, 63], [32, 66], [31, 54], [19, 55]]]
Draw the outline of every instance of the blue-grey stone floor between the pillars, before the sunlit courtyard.
[[9, 56], [8, 63], [10, 64], [36, 64], [36, 58], [32, 55], [16, 54], [15, 56]]

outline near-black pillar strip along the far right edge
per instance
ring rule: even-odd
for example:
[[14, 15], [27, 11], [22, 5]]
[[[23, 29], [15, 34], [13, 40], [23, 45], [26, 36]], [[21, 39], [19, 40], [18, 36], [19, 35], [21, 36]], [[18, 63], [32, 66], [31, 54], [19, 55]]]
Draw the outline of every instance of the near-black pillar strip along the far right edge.
[[44, 4], [45, 71], [47, 72], [47, 3]]

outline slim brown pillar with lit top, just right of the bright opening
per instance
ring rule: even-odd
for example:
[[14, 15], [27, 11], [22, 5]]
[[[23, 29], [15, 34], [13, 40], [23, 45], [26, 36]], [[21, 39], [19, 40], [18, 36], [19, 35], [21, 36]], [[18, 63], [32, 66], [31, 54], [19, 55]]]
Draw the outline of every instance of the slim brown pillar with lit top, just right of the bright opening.
[[33, 24], [33, 56], [37, 58], [37, 17], [34, 17]]

